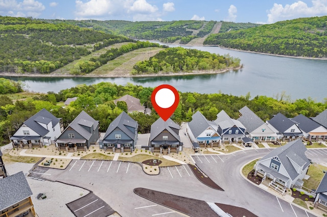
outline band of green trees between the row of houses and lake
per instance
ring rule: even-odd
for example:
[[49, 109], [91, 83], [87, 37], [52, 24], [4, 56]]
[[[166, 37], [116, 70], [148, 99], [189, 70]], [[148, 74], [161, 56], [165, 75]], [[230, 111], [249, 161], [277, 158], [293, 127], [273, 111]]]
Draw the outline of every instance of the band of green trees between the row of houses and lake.
[[[0, 89], [3, 85], [12, 88], [19, 86], [10, 80], [4, 79], [0, 82]], [[9, 86], [8, 86], [9, 85]], [[18, 88], [19, 89], [19, 88]], [[94, 119], [100, 121], [100, 131], [105, 132], [109, 124], [127, 110], [124, 103], [115, 105], [114, 99], [125, 94], [130, 94], [141, 100], [148, 107], [152, 108], [151, 94], [153, 88], [135, 86], [127, 84], [126, 86], [99, 83], [95, 85], [79, 85], [74, 88], [61, 90], [59, 93], [48, 92], [48, 94], [31, 93], [25, 96], [24, 93], [6, 94], [0, 96], [0, 144], [7, 144], [10, 136], [21, 126], [21, 124], [42, 108], [50, 111], [58, 118], [62, 118], [64, 126], [68, 126], [76, 116], [84, 110]], [[28, 94], [28, 93], [27, 93]], [[215, 120], [216, 115], [224, 110], [231, 118], [239, 117], [239, 110], [247, 105], [255, 114], [263, 120], [271, 119], [272, 115], [278, 112], [287, 117], [295, 117], [303, 114], [307, 117], [315, 117], [317, 113], [327, 108], [327, 101], [315, 102], [308, 99], [297, 99], [293, 102], [285, 100], [282, 96], [274, 99], [266, 96], [255, 96], [252, 99], [250, 94], [246, 96], [232, 96], [227, 94], [199, 94], [199, 93], [181, 93], [179, 92], [179, 105], [172, 119], [178, 123], [190, 121], [192, 115], [200, 111], [208, 120]], [[69, 106], [62, 107], [63, 102], [68, 97], [78, 97], [75, 102]], [[130, 114], [138, 122], [138, 131], [146, 133], [150, 131], [151, 124], [159, 116], [152, 110], [151, 115], [142, 113]]]

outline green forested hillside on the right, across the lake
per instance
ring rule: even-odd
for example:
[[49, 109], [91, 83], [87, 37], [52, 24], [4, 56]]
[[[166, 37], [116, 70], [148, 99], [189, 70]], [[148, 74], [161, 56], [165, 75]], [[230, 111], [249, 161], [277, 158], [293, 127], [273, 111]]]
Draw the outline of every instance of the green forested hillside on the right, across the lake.
[[274, 55], [327, 58], [327, 16], [299, 18], [213, 34], [204, 44]]

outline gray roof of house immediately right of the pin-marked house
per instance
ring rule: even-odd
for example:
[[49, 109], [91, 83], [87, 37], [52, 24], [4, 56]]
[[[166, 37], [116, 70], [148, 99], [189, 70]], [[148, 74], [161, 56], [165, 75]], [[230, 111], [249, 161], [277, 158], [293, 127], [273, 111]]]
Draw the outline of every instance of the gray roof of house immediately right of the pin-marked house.
[[[215, 122], [208, 121], [199, 111], [192, 116], [192, 121], [188, 124], [195, 138], [197, 138], [209, 126], [218, 127]], [[214, 127], [212, 128], [216, 131]]]

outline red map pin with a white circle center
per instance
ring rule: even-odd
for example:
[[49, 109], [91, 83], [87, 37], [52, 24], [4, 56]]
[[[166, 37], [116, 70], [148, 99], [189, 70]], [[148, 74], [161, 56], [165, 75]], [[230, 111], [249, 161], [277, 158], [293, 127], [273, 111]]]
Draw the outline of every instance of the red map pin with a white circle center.
[[151, 102], [162, 120], [167, 121], [178, 106], [179, 95], [173, 86], [160, 85], [153, 90]]

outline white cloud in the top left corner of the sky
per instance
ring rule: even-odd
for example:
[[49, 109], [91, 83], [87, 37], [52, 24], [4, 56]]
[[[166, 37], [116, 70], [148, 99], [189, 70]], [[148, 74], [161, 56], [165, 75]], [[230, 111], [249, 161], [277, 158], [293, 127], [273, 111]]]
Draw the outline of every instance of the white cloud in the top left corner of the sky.
[[42, 3], [35, 0], [23, 0], [20, 2], [16, 0], [0, 0], [0, 8], [7, 15], [16, 17], [38, 17], [45, 9]]

